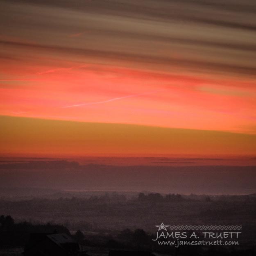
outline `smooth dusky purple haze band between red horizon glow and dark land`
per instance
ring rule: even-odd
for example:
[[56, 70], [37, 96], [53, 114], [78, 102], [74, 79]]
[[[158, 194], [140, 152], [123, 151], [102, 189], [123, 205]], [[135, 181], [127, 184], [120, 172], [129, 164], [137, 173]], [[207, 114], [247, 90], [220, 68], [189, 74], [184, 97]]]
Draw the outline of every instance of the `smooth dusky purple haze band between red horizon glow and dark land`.
[[[79, 164], [66, 160], [1, 162], [0, 185], [64, 190], [153, 191], [242, 195], [256, 191], [256, 166], [188, 165], [193, 159], [154, 158], [164, 165]], [[194, 160], [195, 161], [195, 160]], [[196, 161], [195, 161], [196, 162]]]

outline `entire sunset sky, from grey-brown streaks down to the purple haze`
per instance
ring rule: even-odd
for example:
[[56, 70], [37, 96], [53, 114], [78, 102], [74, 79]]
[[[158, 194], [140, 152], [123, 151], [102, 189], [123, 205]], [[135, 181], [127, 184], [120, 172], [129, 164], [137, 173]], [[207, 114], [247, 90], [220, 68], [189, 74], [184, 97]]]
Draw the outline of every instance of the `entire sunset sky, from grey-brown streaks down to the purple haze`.
[[2, 0], [2, 156], [256, 154], [254, 0]]

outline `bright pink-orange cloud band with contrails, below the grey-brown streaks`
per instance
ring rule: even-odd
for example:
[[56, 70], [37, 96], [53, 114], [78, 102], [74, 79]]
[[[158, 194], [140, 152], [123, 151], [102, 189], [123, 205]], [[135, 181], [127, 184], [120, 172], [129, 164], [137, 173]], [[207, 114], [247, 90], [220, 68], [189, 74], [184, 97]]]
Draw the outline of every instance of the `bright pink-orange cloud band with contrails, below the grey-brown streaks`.
[[2, 63], [1, 114], [255, 134], [253, 82], [72, 64]]

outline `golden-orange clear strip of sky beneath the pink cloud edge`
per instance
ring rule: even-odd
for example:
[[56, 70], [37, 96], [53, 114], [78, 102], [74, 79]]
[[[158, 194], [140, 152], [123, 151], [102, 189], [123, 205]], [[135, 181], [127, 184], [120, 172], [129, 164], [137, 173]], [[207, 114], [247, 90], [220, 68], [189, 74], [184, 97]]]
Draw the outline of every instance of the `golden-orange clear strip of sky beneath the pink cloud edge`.
[[[1, 116], [2, 156], [255, 155], [256, 135]], [[214, 156], [215, 155], [215, 156]]]

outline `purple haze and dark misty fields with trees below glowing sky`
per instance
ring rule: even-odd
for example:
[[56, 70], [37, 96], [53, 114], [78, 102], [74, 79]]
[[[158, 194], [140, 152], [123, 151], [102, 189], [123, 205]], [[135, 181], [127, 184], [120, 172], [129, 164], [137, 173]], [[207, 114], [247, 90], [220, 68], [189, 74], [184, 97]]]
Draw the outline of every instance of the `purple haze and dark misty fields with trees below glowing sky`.
[[[249, 161], [254, 163], [254, 158]], [[144, 165], [120, 164], [128, 162]], [[157, 227], [164, 223], [239, 225], [239, 245], [216, 247], [218, 255], [252, 256], [256, 166], [232, 162], [245, 163], [196, 157], [2, 159], [0, 254], [20, 256], [31, 233], [57, 230], [70, 234], [92, 256], [107, 256], [110, 249], [152, 248], [175, 255], [175, 247], [154, 242], [161, 233]], [[206, 256], [216, 249], [180, 250]]]

